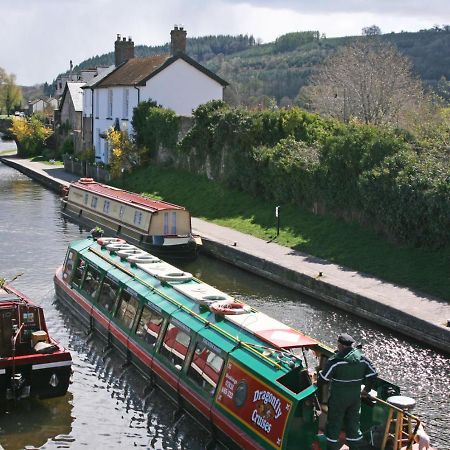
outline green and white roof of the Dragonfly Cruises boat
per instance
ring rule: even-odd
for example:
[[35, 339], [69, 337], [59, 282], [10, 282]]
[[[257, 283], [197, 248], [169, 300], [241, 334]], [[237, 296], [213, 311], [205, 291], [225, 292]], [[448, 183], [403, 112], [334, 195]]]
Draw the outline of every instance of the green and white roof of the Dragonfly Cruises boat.
[[159, 302], [160, 300], [155, 299], [155, 294], [158, 294], [166, 301], [181, 304], [185, 310], [191, 311], [193, 316], [201, 316], [200, 319], [205, 323], [214, 323], [237, 342], [245, 341], [251, 346], [273, 351], [319, 345], [315, 339], [253, 308], [249, 308], [244, 314], [225, 315], [217, 319], [208, 308], [200, 308], [201, 303], [196, 301], [196, 297], [213, 301], [233, 301], [233, 297], [194, 277], [182, 283], [162, 283], [158, 278], [161, 273], [179, 271], [164, 261], [147, 264], [148, 268], [145, 264], [130, 264], [92, 239], [78, 241], [71, 247], [94, 265], [107, 270], [116, 278], [120, 277], [122, 282], [144, 298]]

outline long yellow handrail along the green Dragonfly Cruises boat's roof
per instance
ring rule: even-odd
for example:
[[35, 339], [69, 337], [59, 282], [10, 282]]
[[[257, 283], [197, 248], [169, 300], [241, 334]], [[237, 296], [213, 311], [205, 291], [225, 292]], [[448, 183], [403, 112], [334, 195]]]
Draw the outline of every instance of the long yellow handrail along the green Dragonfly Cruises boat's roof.
[[[264, 355], [263, 353], [260, 353], [258, 350], [256, 350], [252, 346], [252, 344], [249, 344], [249, 343], [247, 343], [245, 341], [242, 341], [242, 340], [238, 339], [236, 336], [233, 336], [232, 334], [228, 333], [227, 331], [222, 330], [220, 327], [216, 326], [214, 323], [212, 323], [209, 320], [205, 319], [204, 317], [200, 316], [195, 311], [192, 311], [190, 308], [188, 308], [187, 306], [185, 306], [182, 303], [178, 302], [174, 298], [169, 297], [164, 292], [162, 292], [159, 289], [157, 289], [156, 287], [152, 286], [150, 283], [147, 283], [145, 280], [143, 280], [142, 278], [140, 278], [139, 276], [137, 276], [136, 274], [134, 274], [130, 270], [126, 269], [125, 267], [121, 266], [120, 264], [118, 264], [116, 261], [114, 261], [110, 257], [104, 255], [102, 252], [100, 252], [97, 249], [92, 248], [92, 247], [89, 247], [89, 251], [91, 251], [92, 253], [96, 254], [97, 256], [102, 258], [103, 260], [107, 261], [109, 264], [111, 264], [115, 268], [117, 268], [117, 269], [121, 270], [122, 272], [126, 273], [131, 278], [134, 278], [134, 279], [138, 280], [144, 286], [148, 287], [151, 291], [156, 292], [158, 295], [160, 295], [164, 299], [168, 300], [169, 302], [171, 302], [174, 305], [178, 306], [183, 311], [185, 311], [188, 314], [190, 314], [191, 316], [195, 317], [200, 322], [204, 323], [205, 326], [209, 326], [209, 327], [213, 328], [217, 332], [221, 333], [223, 336], [227, 337], [228, 339], [232, 340], [233, 342], [236, 342], [238, 345], [243, 345], [247, 350], [249, 350], [252, 353], [256, 354], [258, 357], [262, 358], [263, 360], [265, 360], [266, 362], [268, 362], [272, 366], [275, 366], [278, 369], [282, 368], [281, 364], [277, 363], [276, 361], [272, 361], [266, 355]], [[192, 277], [192, 280], [201, 282], [199, 279], [195, 278], [194, 276]]]

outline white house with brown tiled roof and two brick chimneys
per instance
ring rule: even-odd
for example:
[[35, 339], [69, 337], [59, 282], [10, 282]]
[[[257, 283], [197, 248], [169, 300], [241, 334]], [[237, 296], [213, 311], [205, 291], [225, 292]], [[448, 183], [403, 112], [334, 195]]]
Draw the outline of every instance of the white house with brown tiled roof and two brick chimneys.
[[142, 101], [153, 100], [180, 116], [191, 116], [199, 105], [223, 99], [228, 83], [186, 55], [186, 31], [174, 27], [170, 35], [171, 54], [147, 58], [134, 58], [131, 38], [117, 36], [115, 70], [90, 86], [92, 143], [97, 161], [109, 161], [105, 139], [108, 129], [119, 126], [133, 133], [133, 109]]

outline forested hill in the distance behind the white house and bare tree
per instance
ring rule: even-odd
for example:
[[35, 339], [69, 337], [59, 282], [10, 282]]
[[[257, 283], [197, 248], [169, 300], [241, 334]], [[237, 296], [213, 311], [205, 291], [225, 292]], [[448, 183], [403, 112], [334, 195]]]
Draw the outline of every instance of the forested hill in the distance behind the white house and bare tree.
[[[286, 106], [295, 103], [300, 88], [329, 54], [357, 38], [373, 37], [326, 38], [318, 31], [304, 31], [261, 44], [247, 35], [205, 36], [188, 38], [187, 53], [227, 80], [236, 101], [256, 105], [275, 99]], [[411, 60], [414, 73], [450, 101], [450, 26], [379, 38], [395, 44]], [[135, 53], [142, 57], [168, 51], [169, 44], [140, 45]], [[83, 61], [75, 70], [113, 62], [111, 52]]]

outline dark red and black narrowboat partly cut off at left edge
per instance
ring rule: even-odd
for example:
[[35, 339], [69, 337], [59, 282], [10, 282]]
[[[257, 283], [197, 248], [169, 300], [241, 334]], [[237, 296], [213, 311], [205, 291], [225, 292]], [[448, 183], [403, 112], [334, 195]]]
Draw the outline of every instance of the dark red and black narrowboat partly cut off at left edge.
[[71, 366], [70, 352], [49, 335], [43, 309], [2, 279], [0, 405], [65, 395]]

